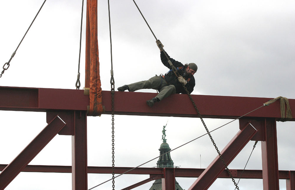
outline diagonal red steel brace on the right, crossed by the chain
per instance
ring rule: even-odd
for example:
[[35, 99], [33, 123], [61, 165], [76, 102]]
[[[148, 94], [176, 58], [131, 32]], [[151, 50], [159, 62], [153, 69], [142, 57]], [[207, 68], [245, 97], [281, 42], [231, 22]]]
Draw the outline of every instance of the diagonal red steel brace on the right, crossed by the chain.
[[[251, 126], [247, 125], [244, 129], [240, 130], [235, 137], [225, 146], [220, 152], [226, 165], [236, 157], [236, 155], [244, 148], [257, 131]], [[218, 178], [220, 173], [224, 171], [224, 164], [219, 156], [217, 156], [212, 163], [205, 169], [205, 171], [197, 178], [191, 185], [191, 189], [208, 189], [211, 184]]]

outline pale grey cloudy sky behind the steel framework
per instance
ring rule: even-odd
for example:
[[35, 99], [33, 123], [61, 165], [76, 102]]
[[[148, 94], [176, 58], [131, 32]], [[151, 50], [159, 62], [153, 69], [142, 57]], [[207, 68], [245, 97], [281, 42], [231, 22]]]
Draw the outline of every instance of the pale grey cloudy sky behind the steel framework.
[[[0, 64], [6, 63], [39, 10], [42, 0], [1, 1]], [[84, 86], [86, 1], [81, 52]], [[110, 90], [110, 41], [107, 1], [98, 0], [101, 83]], [[138, 0], [142, 14], [164, 49], [182, 63], [195, 62], [192, 94], [295, 99], [295, 1]], [[166, 73], [155, 38], [132, 0], [110, 2], [115, 87]], [[76, 89], [81, 1], [49, 0], [19, 46], [0, 86]], [[2, 69], [1, 69], [2, 70]], [[155, 92], [155, 90], [141, 90]], [[79, 100], [77, 100], [79, 101]], [[260, 107], [261, 105], [257, 105]], [[237, 105], [239, 109], [239, 105]], [[262, 108], [263, 109], [263, 108]], [[252, 110], [249, 110], [252, 111]], [[10, 163], [47, 125], [45, 113], [0, 111], [0, 163]], [[111, 116], [88, 117], [88, 165], [111, 166]], [[209, 130], [231, 120], [204, 119]], [[198, 118], [115, 116], [115, 166], [135, 167], [159, 155], [162, 127], [170, 148], [205, 133]], [[295, 170], [293, 122], [277, 122], [280, 170]], [[212, 132], [219, 150], [238, 132], [238, 121]], [[242, 169], [253, 141], [229, 165]], [[201, 155], [201, 159], [200, 159]], [[217, 156], [208, 136], [171, 152], [175, 166], [206, 168]], [[157, 159], [143, 167], [156, 166]], [[71, 165], [71, 137], [56, 136], [33, 160], [34, 165]], [[260, 142], [246, 169], [262, 169]], [[116, 178], [122, 189], [148, 178]], [[111, 175], [89, 174], [91, 188]], [[188, 189], [196, 178], [177, 178]], [[149, 189], [152, 182], [137, 189]], [[242, 179], [240, 189], [260, 190], [262, 180]], [[71, 174], [20, 173], [6, 189], [71, 189]], [[112, 189], [108, 182], [96, 189]], [[231, 179], [217, 179], [209, 189], [235, 189]], [[286, 189], [280, 180], [280, 189]]]

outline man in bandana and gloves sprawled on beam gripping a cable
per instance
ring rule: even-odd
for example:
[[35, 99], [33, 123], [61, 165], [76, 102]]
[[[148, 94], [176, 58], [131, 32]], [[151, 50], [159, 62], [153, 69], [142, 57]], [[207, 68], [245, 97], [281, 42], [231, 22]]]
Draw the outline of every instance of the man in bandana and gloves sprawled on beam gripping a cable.
[[153, 107], [153, 105], [161, 101], [163, 98], [168, 97], [170, 94], [187, 94], [182, 84], [187, 88], [189, 93], [194, 90], [195, 86], [195, 78], [194, 74], [196, 73], [198, 67], [195, 63], [189, 63], [183, 65], [181, 62], [176, 61], [166, 53], [171, 63], [177, 68], [179, 77], [172, 71], [172, 67], [168, 63], [168, 59], [164, 54], [164, 45], [160, 42], [160, 40], [156, 41], [158, 48], [160, 49], [160, 58], [162, 63], [170, 69], [165, 75], [160, 74], [160, 76], [154, 76], [147, 81], [140, 81], [128, 85], [124, 85], [118, 88], [118, 91], [128, 90], [130, 92], [134, 92], [139, 89], [155, 89], [158, 90], [159, 93], [154, 98], [146, 101], [149, 107]]

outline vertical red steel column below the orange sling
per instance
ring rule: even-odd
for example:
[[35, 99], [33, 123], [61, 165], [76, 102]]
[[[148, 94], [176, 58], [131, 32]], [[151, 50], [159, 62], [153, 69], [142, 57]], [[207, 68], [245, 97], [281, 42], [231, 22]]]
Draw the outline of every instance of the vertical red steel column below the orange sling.
[[87, 115], [75, 111], [72, 136], [72, 189], [87, 190]]

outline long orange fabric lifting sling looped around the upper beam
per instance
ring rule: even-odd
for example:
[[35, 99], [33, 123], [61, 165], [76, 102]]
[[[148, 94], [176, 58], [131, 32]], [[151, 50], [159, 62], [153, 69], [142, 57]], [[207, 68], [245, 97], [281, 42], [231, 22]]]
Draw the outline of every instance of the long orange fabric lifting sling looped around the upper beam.
[[87, 0], [85, 87], [90, 88], [88, 116], [98, 116], [103, 112], [98, 55], [97, 0]]

